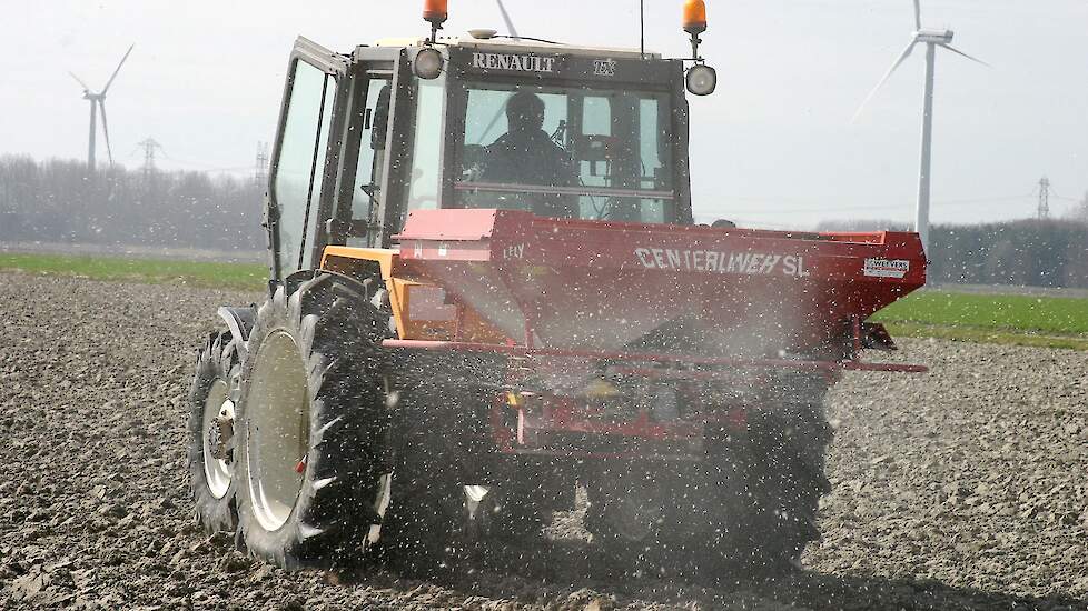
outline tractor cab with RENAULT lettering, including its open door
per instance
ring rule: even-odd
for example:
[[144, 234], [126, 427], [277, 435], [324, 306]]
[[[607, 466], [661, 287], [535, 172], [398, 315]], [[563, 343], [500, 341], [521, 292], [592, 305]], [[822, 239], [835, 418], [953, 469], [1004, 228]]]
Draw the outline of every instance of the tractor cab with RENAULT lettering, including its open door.
[[690, 224], [683, 62], [481, 30], [346, 54], [299, 38], [266, 207], [278, 280], [328, 246], [389, 247], [414, 210]]

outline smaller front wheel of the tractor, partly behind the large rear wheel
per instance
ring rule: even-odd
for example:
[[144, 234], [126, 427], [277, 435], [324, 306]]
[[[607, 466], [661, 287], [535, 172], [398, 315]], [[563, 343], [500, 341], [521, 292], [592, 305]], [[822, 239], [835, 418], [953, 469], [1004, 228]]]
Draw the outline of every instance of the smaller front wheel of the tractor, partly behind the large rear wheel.
[[196, 520], [208, 534], [231, 532], [238, 524], [230, 432], [220, 427], [220, 422], [234, 418], [238, 361], [230, 332], [212, 333], [197, 355], [189, 387], [186, 427], [189, 490]]

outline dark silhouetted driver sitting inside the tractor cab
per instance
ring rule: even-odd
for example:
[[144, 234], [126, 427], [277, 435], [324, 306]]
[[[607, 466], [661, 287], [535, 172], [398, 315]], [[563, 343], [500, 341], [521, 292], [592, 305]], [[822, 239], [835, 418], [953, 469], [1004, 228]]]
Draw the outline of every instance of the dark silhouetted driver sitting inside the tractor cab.
[[[532, 91], [518, 91], [506, 101], [508, 131], [484, 147], [482, 182], [538, 187], [572, 187], [576, 173], [571, 156], [545, 132], [544, 100]], [[577, 217], [577, 197], [558, 193], [521, 193], [532, 211], [544, 217]]]

